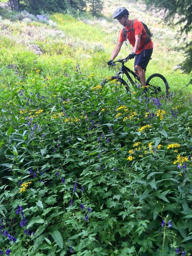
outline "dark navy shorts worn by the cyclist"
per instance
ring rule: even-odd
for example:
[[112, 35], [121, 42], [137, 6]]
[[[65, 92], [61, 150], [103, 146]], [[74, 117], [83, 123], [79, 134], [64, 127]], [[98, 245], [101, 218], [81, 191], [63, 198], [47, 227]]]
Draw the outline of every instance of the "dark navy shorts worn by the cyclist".
[[[148, 62], [150, 61], [151, 55], [152, 55], [153, 49], [144, 49], [140, 54], [135, 55], [135, 65], [143, 67], [144, 70], [146, 70], [146, 67], [148, 65]], [[135, 68], [136, 71], [136, 68]]]

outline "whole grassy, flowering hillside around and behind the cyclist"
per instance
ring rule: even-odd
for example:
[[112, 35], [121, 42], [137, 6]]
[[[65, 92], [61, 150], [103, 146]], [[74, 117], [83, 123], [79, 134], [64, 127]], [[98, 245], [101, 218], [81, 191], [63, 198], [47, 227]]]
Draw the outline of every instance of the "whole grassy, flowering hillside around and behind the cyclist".
[[[190, 31], [141, 0], [34, 3], [0, 8], [0, 254], [191, 255]], [[98, 86], [119, 6], [151, 27], [166, 101]]]

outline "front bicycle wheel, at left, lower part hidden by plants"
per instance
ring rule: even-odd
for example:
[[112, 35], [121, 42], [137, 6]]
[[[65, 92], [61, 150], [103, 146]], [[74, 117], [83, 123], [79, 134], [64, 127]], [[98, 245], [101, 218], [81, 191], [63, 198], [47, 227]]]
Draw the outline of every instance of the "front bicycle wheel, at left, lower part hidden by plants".
[[115, 90], [116, 90], [116, 87], [122, 86], [123, 88], [125, 88], [127, 93], [130, 93], [128, 84], [125, 82], [125, 80], [123, 80], [121, 77], [118, 77], [118, 76], [110, 76], [104, 79], [100, 85], [102, 87], [112, 87]]

